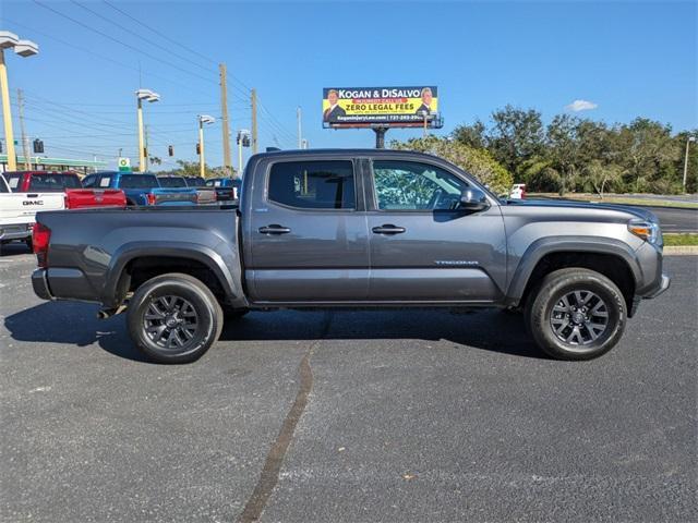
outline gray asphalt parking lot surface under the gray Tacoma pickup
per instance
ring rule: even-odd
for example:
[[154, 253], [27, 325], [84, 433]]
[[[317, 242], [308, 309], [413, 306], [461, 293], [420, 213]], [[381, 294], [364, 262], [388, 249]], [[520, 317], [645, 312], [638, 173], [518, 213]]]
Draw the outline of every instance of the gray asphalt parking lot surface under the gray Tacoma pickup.
[[253, 313], [192, 365], [0, 257], [2, 521], [696, 521], [698, 257], [621, 344], [497, 312]]

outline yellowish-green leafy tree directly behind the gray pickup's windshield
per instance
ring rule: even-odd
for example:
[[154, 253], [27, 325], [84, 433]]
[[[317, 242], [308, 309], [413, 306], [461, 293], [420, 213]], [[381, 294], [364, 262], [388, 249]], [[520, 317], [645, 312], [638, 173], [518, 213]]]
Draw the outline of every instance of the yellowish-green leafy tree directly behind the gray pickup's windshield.
[[512, 174], [485, 149], [477, 149], [455, 139], [436, 136], [411, 138], [407, 142], [394, 141], [390, 143], [390, 147], [430, 153], [444, 158], [476, 177], [496, 194], [508, 194], [512, 188]]

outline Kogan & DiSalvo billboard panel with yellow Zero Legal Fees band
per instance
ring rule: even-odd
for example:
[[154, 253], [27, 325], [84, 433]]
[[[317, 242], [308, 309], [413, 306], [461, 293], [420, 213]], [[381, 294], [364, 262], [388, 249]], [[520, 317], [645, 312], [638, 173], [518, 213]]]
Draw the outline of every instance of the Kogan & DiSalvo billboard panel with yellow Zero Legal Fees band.
[[325, 87], [323, 126], [413, 127], [441, 126], [438, 89], [434, 85], [408, 87]]

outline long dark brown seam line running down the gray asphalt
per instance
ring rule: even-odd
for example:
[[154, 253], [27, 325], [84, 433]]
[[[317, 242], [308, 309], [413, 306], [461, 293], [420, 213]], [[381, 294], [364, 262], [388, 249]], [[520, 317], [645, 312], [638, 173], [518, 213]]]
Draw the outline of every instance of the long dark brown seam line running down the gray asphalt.
[[311, 343], [308, 351], [303, 355], [303, 360], [301, 360], [301, 385], [298, 389], [298, 393], [296, 394], [296, 401], [293, 401], [291, 410], [288, 411], [288, 414], [284, 419], [284, 424], [281, 425], [281, 430], [279, 431], [279, 435], [276, 437], [276, 441], [266, 455], [266, 461], [264, 462], [264, 467], [262, 469], [260, 479], [257, 481], [257, 484], [252, 491], [252, 496], [250, 496], [250, 499], [248, 499], [248, 502], [244, 506], [244, 510], [238, 519], [238, 523], [252, 523], [260, 519], [260, 516], [262, 515], [262, 511], [264, 511], [264, 508], [266, 507], [266, 503], [272, 496], [274, 487], [276, 487], [276, 484], [279, 481], [279, 472], [281, 470], [281, 465], [284, 464], [286, 452], [288, 451], [288, 448], [291, 445], [291, 440], [293, 439], [296, 425], [298, 425], [298, 422], [305, 411], [308, 397], [313, 389], [313, 369], [311, 368], [310, 360], [322, 340], [327, 337], [332, 316], [332, 312], [326, 313], [321, 336], [317, 340]]

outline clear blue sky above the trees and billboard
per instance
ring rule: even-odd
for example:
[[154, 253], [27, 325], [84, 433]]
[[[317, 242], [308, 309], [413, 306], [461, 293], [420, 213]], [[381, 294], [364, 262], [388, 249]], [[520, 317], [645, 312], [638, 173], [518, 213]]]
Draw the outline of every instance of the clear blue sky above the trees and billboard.
[[[570, 112], [698, 127], [697, 1], [2, 0], [0, 29], [40, 48], [26, 59], [5, 51], [15, 136], [19, 88], [26, 134], [48, 156], [111, 167], [120, 151], [137, 156], [139, 87], [161, 97], [144, 109], [161, 169], [197, 160], [197, 114], [217, 119], [206, 160], [220, 165], [220, 62], [233, 138], [250, 129], [257, 92], [261, 150], [297, 147], [298, 107], [311, 147], [374, 146], [370, 130], [322, 127], [323, 87], [436, 85], [438, 135], [507, 104], [545, 121]], [[386, 139], [420, 135], [390, 130]]]

